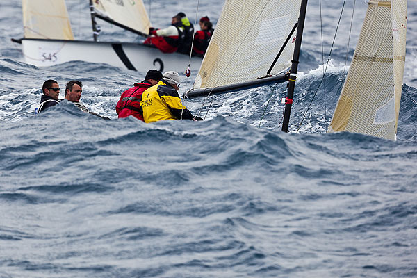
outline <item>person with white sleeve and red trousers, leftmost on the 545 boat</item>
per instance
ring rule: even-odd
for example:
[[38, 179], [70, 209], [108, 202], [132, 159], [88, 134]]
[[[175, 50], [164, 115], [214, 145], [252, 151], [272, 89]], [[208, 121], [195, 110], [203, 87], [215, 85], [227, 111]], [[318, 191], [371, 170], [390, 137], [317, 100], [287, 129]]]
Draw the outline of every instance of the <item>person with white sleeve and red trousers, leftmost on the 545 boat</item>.
[[172, 17], [171, 26], [164, 29], [149, 28], [149, 37], [144, 44], [153, 44], [163, 53], [173, 53], [183, 43], [185, 38], [181, 17]]

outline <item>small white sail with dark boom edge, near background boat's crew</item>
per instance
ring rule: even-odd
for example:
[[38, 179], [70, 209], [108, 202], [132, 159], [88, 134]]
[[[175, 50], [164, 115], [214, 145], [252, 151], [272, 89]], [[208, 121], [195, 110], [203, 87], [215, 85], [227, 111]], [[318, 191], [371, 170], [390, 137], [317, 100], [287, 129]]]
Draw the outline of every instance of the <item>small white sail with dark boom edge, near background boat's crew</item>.
[[95, 0], [97, 13], [141, 33], [149, 33], [149, 17], [142, 0]]

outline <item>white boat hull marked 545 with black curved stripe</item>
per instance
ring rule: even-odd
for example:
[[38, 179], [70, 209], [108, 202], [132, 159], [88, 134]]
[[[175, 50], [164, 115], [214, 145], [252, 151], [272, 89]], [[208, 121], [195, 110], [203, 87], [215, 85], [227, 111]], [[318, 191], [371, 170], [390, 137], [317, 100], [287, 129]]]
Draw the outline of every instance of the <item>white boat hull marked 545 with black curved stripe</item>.
[[[83, 60], [139, 72], [151, 69], [184, 72], [189, 61], [186, 54], [165, 54], [154, 47], [130, 42], [22, 39], [22, 48], [26, 63], [38, 67]], [[191, 70], [198, 70], [201, 63], [202, 57], [193, 56]]]

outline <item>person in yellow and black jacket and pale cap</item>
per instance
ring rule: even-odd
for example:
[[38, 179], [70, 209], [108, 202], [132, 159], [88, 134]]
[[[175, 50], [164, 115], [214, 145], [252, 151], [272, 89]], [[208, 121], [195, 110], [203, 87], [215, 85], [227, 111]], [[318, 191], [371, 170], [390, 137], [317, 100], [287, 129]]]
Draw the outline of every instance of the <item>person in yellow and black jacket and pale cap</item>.
[[203, 120], [201, 117], [193, 116], [186, 106], [183, 106], [178, 95], [180, 83], [178, 72], [165, 72], [157, 85], [143, 92], [140, 105], [145, 122]]

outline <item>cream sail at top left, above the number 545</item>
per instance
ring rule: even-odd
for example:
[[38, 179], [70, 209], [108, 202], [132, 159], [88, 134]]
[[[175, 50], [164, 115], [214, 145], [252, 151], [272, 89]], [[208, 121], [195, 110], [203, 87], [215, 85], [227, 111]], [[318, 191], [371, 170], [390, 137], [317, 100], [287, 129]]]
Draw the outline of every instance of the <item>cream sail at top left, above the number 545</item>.
[[64, 0], [23, 0], [24, 38], [74, 40]]

